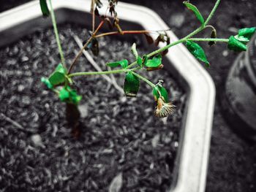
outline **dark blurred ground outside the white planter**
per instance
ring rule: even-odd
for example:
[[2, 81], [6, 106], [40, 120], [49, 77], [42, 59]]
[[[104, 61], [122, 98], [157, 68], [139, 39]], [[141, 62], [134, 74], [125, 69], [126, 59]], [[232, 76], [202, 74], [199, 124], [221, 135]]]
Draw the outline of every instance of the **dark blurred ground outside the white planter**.
[[[0, 1], [0, 12], [26, 3], [28, 0]], [[182, 1], [171, 0], [123, 0], [153, 9], [176, 36], [184, 37], [197, 28], [199, 23], [191, 12], [183, 6]], [[214, 0], [193, 0], [193, 4], [206, 17], [214, 6]], [[220, 38], [228, 38], [236, 34], [239, 28], [256, 26], [255, 0], [223, 0], [210, 24], [217, 28]], [[1, 23], [0, 23], [1, 24]], [[209, 36], [211, 31], [203, 31], [200, 35]], [[222, 115], [220, 94], [227, 73], [238, 56], [228, 51], [225, 44], [208, 47], [201, 44], [211, 64], [206, 69], [214, 79], [217, 88], [217, 101], [214, 112], [214, 126], [211, 137], [211, 154], [208, 165], [207, 192], [255, 192], [256, 191], [256, 145], [247, 142], [233, 133], [232, 126]], [[255, 117], [256, 118], [256, 117]]]

